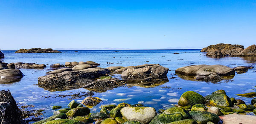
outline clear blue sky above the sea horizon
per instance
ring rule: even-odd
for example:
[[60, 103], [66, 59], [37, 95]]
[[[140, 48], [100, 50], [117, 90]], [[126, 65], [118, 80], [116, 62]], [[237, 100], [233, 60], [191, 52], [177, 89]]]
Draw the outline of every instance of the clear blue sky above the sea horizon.
[[256, 0], [1, 0], [0, 48], [256, 43]]

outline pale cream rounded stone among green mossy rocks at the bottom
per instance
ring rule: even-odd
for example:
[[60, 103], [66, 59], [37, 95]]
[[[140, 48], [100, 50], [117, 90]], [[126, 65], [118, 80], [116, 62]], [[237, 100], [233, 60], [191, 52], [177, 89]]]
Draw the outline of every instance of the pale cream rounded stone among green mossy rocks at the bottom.
[[153, 107], [124, 107], [120, 112], [126, 120], [141, 124], [147, 124], [157, 115]]

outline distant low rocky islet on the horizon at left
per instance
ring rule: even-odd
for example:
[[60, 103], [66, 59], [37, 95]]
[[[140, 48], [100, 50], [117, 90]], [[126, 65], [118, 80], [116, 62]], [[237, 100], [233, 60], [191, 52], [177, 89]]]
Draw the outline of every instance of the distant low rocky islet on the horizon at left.
[[20, 49], [15, 53], [61, 53], [61, 51], [54, 51], [51, 48], [47, 48], [47, 49], [31, 48], [31, 49]]

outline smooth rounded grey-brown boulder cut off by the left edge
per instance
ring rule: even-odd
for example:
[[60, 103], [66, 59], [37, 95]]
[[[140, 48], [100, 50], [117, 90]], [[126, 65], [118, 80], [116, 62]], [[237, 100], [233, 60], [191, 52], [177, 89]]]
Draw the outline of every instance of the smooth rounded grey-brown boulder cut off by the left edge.
[[19, 69], [2, 69], [0, 70], [0, 83], [10, 83], [19, 81], [23, 73]]

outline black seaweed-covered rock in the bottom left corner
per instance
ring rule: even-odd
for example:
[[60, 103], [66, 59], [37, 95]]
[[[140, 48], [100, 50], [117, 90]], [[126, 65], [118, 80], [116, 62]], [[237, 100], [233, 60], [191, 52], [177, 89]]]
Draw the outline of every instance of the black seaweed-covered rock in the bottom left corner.
[[9, 90], [0, 91], [0, 124], [24, 124], [21, 112]]

